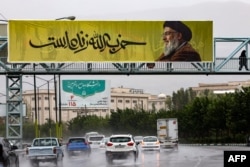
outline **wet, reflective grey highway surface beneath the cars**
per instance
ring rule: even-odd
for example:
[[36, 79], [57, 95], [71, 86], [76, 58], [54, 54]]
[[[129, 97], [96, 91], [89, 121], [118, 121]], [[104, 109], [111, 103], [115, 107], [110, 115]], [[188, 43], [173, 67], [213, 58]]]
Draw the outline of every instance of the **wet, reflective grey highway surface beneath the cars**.
[[[178, 149], [140, 151], [136, 162], [132, 159], [114, 160], [111, 167], [215, 167], [224, 166], [224, 150], [250, 151], [246, 146], [197, 146], [179, 145]], [[92, 150], [89, 158], [72, 157], [63, 160], [63, 167], [108, 167], [104, 150]], [[40, 167], [53, 167], [53, 164], [40, 163]], [[25, 158], [20, 158], [20, 167], [30, 167]]]

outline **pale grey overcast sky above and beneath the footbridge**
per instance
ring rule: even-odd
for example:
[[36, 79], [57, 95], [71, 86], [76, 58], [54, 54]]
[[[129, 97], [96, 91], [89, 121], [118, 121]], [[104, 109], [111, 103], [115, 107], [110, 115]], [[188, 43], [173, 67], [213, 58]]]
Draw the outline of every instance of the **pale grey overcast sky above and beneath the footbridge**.
[[[214, 37], [250, 36], [249, 0], [1, 0], [0, 4], [0, 20], [54, 20], [71, 15], [76, 16], [76, 20], [213, 20]], [[50, 78], [52, 76], [46, 77]], [[123, 86], [168, 95], [180, 88], [198, 86], [199, 83], [250, 79], [247, 75], [94, 75], [82, 78], [107, 79], [111, 81], [111, 87]], [[31, 78], [24, 80], [33, 82]], [[24, 89], [28, 87], [24, 84]], [[0, 92], [5, 92], [4, 87], [0, 88]]]

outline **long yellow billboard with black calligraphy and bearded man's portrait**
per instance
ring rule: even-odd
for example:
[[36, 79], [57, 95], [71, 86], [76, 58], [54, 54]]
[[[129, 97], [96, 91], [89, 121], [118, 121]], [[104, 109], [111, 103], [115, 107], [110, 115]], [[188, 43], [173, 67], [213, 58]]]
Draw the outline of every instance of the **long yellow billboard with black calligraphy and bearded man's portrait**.
[[[8, 24], [10, 63], [213, 61], [212, 21], [10, 20]], [[166, 50], [173, 54], [183, 48], [184, 42], [188, 47], [182, 49], [182, 58], [162, 58]], [[199, 59], [189, 59], [190, 49]]]

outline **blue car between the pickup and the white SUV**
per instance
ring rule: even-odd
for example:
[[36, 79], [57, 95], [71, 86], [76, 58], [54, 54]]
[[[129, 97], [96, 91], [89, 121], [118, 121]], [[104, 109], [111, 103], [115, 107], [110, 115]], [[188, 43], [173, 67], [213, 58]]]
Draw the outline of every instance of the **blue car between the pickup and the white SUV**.
[[87, 155], [89, 157], [91, 148], [89, 143], [84, 137], [70, 137], [66, 144], [67, 156], [72, 155]]

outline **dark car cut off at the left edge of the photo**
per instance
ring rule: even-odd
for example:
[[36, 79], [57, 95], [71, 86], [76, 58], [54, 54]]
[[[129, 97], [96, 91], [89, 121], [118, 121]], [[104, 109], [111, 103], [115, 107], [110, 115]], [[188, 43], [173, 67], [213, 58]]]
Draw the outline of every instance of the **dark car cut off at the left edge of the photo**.
[[11, 145], [8, 139], [0, 137], [0, 144], [3, 146], [2, 155], [4, 167], [19, 167], [18, 153], [15, 152], [18, 147]]

